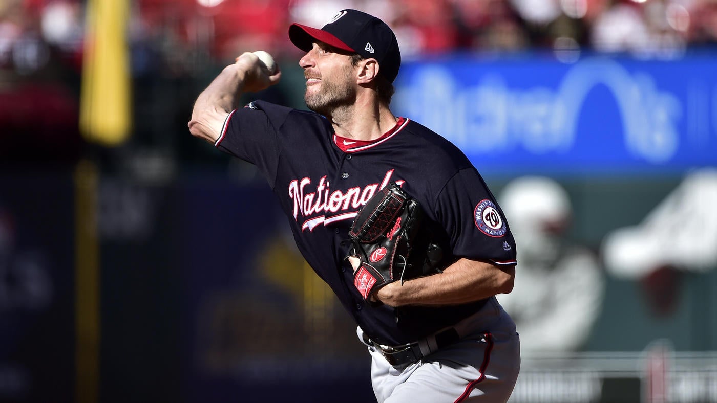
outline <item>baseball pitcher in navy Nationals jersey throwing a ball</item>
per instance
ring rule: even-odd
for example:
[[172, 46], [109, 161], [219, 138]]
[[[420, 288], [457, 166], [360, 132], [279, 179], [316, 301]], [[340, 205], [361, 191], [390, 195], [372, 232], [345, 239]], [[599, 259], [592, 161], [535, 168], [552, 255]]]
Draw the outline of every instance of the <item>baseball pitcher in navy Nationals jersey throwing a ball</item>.
[[493, 194], [457, 147], [389, 109], [401, 55], [383, 21], [347, 9], [289, 39], [310, 112], [236, 105], [281, 78], [246, 52], [196, 99], [191, 134], [266, 178], [356, 320], [378, 402], [506, 402], [520, 342], [495, 295], [513, 288], [516, 243]]

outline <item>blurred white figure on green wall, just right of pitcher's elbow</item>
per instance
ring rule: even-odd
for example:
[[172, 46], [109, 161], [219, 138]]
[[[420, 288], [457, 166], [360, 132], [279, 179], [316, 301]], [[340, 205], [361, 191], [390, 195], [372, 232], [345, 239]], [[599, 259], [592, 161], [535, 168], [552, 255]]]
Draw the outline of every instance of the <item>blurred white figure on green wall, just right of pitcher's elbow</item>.
[[572, 205], [556, 181], [524, 176], [498, 197], [518, 248], [513, 293], [500, 304], [521, 334], [521, 352], [581, 349], [602, 308], [597, 255], [566, 238]]

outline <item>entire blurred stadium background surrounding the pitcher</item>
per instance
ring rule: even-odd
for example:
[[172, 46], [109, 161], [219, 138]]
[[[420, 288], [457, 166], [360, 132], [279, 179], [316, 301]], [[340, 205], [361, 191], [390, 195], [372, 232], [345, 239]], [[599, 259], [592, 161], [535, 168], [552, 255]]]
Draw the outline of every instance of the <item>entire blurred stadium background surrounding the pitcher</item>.
[[246, 50], [284, 74], [247, 102], [303, 108], [288, 24], [343, 8], [513, 206], [511, 402], [717, 402], [714, 0], [1, 0], [0, 402], [375, 401], [265, 183], [186, 129]]

